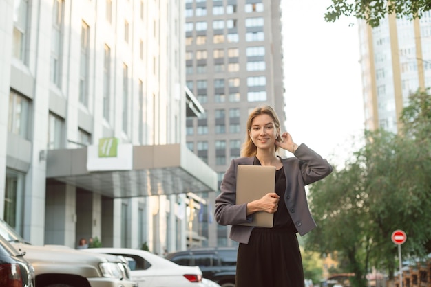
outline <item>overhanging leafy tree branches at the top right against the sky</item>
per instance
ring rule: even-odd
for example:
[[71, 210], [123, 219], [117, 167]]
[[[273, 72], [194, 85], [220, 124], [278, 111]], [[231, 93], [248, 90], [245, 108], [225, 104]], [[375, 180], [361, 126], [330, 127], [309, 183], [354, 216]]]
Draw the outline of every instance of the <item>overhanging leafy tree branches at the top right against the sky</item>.
[[381, 19], [388, 14], [396, 14], [397, 17], [417, 19], [423, 12], [431, 10], [430, 0], [332, 0], [332, 5], [324, 14], [327, 22], [335, 22], [340, 16], [354, 16], [364, 19], [371, 27], [377, 27]]

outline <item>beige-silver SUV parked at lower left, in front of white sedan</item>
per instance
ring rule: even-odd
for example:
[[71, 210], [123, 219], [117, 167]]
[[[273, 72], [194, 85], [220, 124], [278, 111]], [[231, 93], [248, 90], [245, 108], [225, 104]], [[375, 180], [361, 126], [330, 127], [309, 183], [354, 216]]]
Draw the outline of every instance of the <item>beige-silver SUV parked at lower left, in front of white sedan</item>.
[[36, 246], [25, 242], [4, 220], [0, 235], [34, 267], [37, 287], [136, 287], [122, 258], [82, 253], [67, 246]]

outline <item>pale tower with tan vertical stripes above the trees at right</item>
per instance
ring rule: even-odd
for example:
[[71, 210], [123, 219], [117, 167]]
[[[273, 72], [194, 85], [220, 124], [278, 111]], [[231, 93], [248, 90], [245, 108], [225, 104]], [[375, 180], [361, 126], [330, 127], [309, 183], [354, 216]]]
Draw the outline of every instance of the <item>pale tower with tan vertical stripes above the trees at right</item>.
[[366, 129], [397, 133], [408, 95], [431, 87], [431, 13], [408, 21], [394, 15], [371, 28], [359, 23]]

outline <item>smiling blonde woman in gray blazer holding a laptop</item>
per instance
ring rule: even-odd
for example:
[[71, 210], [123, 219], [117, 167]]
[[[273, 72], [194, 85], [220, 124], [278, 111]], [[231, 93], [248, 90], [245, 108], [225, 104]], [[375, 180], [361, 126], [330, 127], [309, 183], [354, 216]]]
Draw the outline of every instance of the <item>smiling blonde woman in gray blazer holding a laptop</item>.
[[[332, 167], [304, 143], [298, 146], [289, 133], [280, 133], [280, 120], [271, 106], [255, 108], [246, 127], [242, 157], [231, 161], [215, 199], [215, 219], [220, 225], [232, 225], [230, 238], [240, 243], [235, 286], [303, 287], [296, 233], [303, 236], [316, 226], [304, 187], [323, 179]], [[278, 157], [279, 148], [295, 157]], [[251, 203], [236, 205], [236, 169], [244, 164], [275, 166], [275, 190]], [[256, 211], [274, 214], [273, 227], [240, 225], [253, 220]]]

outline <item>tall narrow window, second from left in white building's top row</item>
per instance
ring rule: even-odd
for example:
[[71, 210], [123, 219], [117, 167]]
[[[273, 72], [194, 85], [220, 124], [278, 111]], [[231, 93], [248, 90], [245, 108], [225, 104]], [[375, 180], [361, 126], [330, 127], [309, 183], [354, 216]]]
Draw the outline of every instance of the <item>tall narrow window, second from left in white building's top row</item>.
[[64, 2], [55, 0], [52, 9], [52, 43], [51, 43], [51, 82], [61, 87], [61, 55], [63, 47]]

